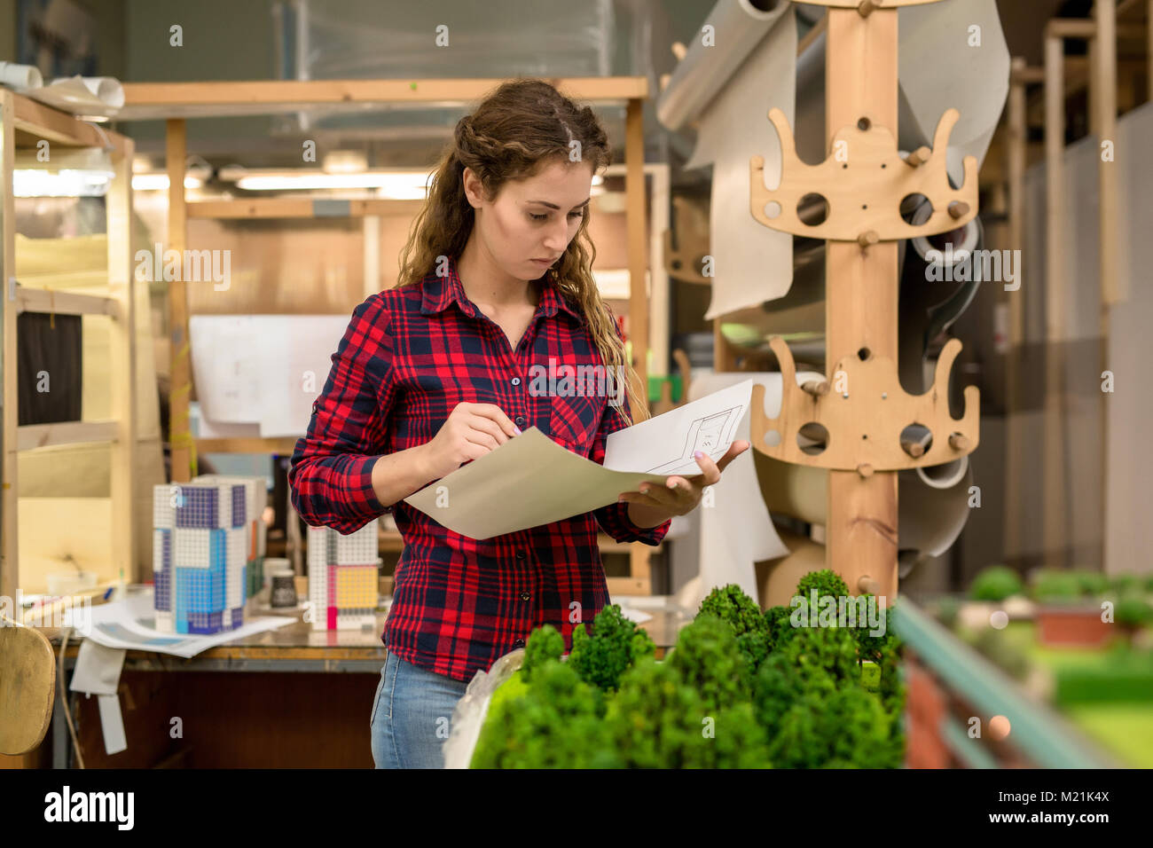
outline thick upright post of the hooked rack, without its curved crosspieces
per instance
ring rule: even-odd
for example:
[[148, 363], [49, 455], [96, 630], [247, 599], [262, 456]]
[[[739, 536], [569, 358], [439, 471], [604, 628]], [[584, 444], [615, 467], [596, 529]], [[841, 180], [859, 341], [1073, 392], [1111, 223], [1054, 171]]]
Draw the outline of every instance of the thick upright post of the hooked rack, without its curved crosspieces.
[[[829, 8], [824, 59], [828, 148], [843, 127], [867, 119], [897, 133], [897, 10]], [[850, 159], [852, 151], [849, 151]], [[862, 248], [830, 241], [826, 270], [826, 362], [867, 347], [897, 362], [897, 243]], [[852, 391], [852, 387], [849, 388]], [[829, 434], [836, 438], [838, 434]], [[826, 562], [857, 594], [860, 578], [897, 594], [897, 473], [829, 472]]]

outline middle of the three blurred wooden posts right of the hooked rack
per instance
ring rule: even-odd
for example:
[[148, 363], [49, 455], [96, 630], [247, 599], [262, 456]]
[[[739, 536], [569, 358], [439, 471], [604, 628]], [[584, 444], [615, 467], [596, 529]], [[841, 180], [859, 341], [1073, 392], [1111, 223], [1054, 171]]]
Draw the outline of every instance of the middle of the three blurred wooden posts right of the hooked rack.
[[[1064, 269], [1065, 78], [1064, 42], [1052, 25], [1045, 38], [1045, 475], [1043, 554], [1049, 566], [1068, 563], [1064, 474]], [[1060, 556], [1058, 556], [1060, 555]]]

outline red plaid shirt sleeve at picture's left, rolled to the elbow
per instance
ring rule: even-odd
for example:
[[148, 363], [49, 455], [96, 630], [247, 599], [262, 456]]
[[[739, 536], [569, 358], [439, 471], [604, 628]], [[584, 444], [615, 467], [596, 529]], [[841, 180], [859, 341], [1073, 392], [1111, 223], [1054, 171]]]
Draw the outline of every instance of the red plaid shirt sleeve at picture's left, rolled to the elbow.
[[392, 510], [372, 488], [394, 396], [392, 354], [386, 300], [374, 294], [353, 312], [293, 451], [292, 504], [310, 526], [347, 535]]

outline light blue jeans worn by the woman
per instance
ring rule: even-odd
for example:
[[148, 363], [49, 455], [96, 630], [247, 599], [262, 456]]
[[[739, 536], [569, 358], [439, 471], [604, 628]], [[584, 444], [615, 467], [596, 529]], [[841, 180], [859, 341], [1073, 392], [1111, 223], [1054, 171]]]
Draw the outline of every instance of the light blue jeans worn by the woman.
[[442, 746], [467, 683], [414, 666], [391, 651], [369, 726], [377, 768], [444, 768]]

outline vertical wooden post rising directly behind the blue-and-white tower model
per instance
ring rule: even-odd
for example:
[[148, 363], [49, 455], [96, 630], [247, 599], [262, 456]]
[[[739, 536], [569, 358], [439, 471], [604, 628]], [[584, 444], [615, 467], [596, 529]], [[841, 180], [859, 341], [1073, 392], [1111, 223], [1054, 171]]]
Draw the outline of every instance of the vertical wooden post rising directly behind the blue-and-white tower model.
[[[166, 122], [165, 156], [168, 167], [168, 249], [183, 255], [188, 247], [188, 210], [184, 207], [184, 158], [187, 127], [173, 118]], [[164, 264], [164, 256], [160, 257]], [[183, 275], [168, 283], [168, 445], [172, 451], [172, 482], [193, 479], [193, 443], [188, 402], [193, 390], [191, 345], [188, 339], [188, 294]]]

